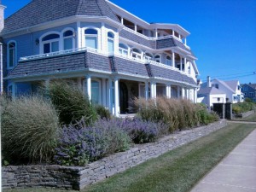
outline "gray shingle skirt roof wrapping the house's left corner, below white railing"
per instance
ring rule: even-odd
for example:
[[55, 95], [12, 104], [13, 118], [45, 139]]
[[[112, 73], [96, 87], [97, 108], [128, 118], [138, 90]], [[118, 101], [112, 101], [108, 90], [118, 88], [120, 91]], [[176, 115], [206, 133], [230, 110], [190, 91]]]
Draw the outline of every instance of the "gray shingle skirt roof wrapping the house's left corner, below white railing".
[[38, 60], [21, 61], [9, 74], [8, 79], [26, 78], [37, 75], [72, 73], [85, 69], [111, 72], [108, 57], [89, 52], [59, 55]]

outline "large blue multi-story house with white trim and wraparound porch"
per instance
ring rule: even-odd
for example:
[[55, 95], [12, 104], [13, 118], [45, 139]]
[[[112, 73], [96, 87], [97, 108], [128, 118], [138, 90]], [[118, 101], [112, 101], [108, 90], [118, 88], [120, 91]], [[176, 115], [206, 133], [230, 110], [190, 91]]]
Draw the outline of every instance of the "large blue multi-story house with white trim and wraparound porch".
[[196, 101], [197, 58], [182, 26], [149, 24], [105, 0], [32, 0], [1, 22], [12, 96], [67, 79], [116, 116], [130, 112], [134, 96]]

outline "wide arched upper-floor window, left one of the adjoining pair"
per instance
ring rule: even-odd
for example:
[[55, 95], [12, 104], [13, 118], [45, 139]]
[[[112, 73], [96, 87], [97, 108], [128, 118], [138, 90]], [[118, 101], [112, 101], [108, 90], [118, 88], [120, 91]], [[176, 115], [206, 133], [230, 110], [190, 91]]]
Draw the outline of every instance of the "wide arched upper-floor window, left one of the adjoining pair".
[[49, 34], [42, 38], [44, 54], [59, 51], [60, 35]]

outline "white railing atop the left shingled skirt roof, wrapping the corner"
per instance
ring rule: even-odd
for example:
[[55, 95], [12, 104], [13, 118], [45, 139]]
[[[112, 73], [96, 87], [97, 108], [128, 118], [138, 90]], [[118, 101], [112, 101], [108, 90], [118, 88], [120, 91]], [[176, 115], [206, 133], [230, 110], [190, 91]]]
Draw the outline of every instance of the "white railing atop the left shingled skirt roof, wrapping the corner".
[[55, 51], [55, 52], [47, 53], [47, 54], [24, 56], [24, 57], [20, 57], [20, 61], [35, 60], [35, 59], [41, 59], [41, 58], [51, 57], [51, 56], [56, 56], [56, 55], [67, 55], [67, 54], [84, 51], [84, 50], [87, 50], [88, 52], [91, 52], [91, 53], [106, 55], [106, 53], [104, 53], [102, 50], [93, 49], [93, 48], [89, 48], [89, 47], [83, 47], [83, 48], [76, 48], [76, 49], [60, 50], [60, 51]]

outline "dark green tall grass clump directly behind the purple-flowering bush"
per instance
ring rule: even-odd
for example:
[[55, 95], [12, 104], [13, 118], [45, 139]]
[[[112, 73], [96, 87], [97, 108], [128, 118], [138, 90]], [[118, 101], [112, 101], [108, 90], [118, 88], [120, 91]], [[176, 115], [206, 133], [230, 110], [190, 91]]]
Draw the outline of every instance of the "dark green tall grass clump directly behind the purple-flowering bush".
[[97, 119], [96, 109], [91, 105], [88, 96], [79, 90], [73, 82], [54, 81], [47, 90], [50, 100], [60, 113], [62, 124], [69, 125], [84, 119], [86, 125]]

